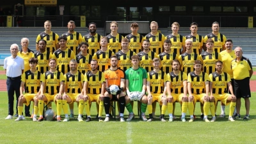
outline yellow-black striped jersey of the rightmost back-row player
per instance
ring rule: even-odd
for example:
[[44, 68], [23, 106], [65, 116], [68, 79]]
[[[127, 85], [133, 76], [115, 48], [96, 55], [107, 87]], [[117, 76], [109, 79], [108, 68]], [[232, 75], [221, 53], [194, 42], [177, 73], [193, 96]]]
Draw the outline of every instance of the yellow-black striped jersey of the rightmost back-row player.
[[213, 35], [213, 33], [209, 33], [208, 35], [205, 35], [204, 43], [206, 43], [206, 40], [208, 40], [209, 38], [214, 41], [214, 51], [220, 53], [223, 50], [223, 45], [225, 45], [225, 42], [227, 40], [226, 36], [222, 35], [221, 33], [218, 33], [218, 35]]

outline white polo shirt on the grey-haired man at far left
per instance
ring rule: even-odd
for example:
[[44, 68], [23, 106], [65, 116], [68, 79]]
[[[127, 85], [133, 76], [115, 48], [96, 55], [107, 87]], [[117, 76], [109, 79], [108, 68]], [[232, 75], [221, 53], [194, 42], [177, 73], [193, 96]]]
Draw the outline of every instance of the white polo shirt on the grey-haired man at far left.
[[22, 70], [24, 70], [24, 60], [19, 56], [16, 58], [8, 56], [4, 59], [4, 69], [6, 69], [6, 76], [8, 77], [21, 76]]

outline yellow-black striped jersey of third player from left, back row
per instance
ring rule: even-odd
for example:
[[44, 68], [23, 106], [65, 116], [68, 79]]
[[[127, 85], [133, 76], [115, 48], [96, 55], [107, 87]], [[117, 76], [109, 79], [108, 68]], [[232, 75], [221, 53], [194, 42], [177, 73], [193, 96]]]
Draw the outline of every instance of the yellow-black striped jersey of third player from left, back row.
[[100, 50], [100, 38], [102, 36], [96, 33], [94, 36], [88, 33], [87, 35], [83, 36], [82, 42], [88, 43], [88, 54], [93, 55], [95, 52]]

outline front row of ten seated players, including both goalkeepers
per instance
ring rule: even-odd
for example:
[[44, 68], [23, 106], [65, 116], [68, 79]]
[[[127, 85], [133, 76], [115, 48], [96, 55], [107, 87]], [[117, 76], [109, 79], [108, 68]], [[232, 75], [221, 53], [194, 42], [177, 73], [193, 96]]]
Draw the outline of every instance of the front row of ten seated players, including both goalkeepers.
[[[42, 121], [44, 102], [47, 104], [54, 101], [57, 106], [57, 121], [61, 121], [60, 114], [63, 109], [63, 112], [65, 113], [63, 122], [68, 122], [67, 104], [76, 101], [79, 102], [79, 115], [77, 119], [79, 122], [83, 121], [81, 115], [83, 114], [83, 109], [85, 107], [86, 114], [88, 115], [86, 121], [88, 122], [91, 120], [89, 105], [93, 100], [100, 104], [99, 121], [102, 121], [102, 105], [104, 102], [106, 112], [104, 122], [109, 121], [108, 112], [110, 100], [118, 100], [120, 106], [120, 122], [125, 122], [125, 106], [129, 111], [129, 118], [127, 120], [131, 121], [134, 117], [130, 104], [130, 101], [134, 100], [141, 102], [142, 119], [148, 122], [152, 121], [153, 118], [151, 104], [154, 101], [158, 101], [161, 105], [163, 104], [161, 111], [162, 122], [165, 122], [164, 113], [166, 108], [168, 108], [170, 116], [169, 121], [173, 121], [172, 103], [175, 101], [182, 104], [182, 122], [186, 122], [185, 116], [187, 109], [189, 109], [190, 115], [189, 122], [193, 122], [193, 111], [196, 101], [200, 101], [204, 104], [204, 121], [210, 122], [207, 119], [208, 111], [210, 109], [212, 113], [211, 122], [214, 122], [216, 120], [214, 102], [216, 103], [218, 100], [221, 100], [224, 104], [229, 104], [231, 102], [228, 120], [234, 121], [232, 119], [232, 113], [236, 106], [236, 97], [233, 94], [232, 85], [230, 84], [230, 76], [227, 73], [222, 72], [223, 63], [221, 61], [216, 61], [216, 72], [208, 76], [208, 74], [201, 71], [202, 62], [196, 60], [194, 65], [195, 71], [190, 72], [187, 79], [186, 73], [179, 70], [180, 63], [178, 60], [172, 61], [173, 71], [166, 75], [166, 73], [159, 68], [159, 58], [154, 58], [154, 70], [148, 73], [144, 68], [139, 67], [140, 59], [137, 55], [132, 56], [132, 67], [125, 72], [117, 67], [118, 59], [116, 56], [111, 56], [110, 59], [111, 67], [108, 68], [104, 74], [97, 70], [97, 61], [92, 60], [92, 70], [86, 72], [85, 76], [77, 71], [77, 61], [70, 60], [70, 71], [63, 76], [61, 72], [56, 70], [56, 60], [49, 60], [50, 70], [41, 74], [35, 68], [38, 60], [36, 58], [31, 58], [29, 60], [30, 70], [22, 74], [20, 93], [22, 93], [24, 84], [26, 84], [26, 93], [20, 95], [18, 105], [19, 117], [16, 120], [22, 120], [23, 103], [28, 105], [29, 102], [34, 99], [35, 106], [33, 121], [36, 121], [38, 111], [40, 112], [38, 121]], [[41, 84], [39, 81], [41, 81]], [[109, 86], [111, 86], [111, 84], [116, 84], [120, 87], [117, 95], [110, 94]], [[225, 93], [227, 85], [232, 95]], [[124, 87], [127, 96], [125, 96]], [[146, 90], [147, 93], [145, 93]], [[211, 93], [210, 96], [209, 92]], [[137, 93], [137, 95], [134, 95], [134, 93]], [[187, 96], [187, 93], [189, 96]], [[166, 96], [166, 94], [168, 96]], [[150, 116], [148, 120], [145, 117], [147, 108]]]

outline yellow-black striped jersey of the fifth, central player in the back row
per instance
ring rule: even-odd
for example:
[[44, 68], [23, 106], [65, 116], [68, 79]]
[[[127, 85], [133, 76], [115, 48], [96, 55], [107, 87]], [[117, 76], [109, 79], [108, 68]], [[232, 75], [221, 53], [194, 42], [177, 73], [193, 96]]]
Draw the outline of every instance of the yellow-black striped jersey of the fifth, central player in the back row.
[[129, 40], [129, 48], [131, 51], [134, 51], [136, 54], [141, 52], [142, 49], [142, 42], [143, 42], [143, 35], [138, 33], [137, 35], [129, 34], [125, 36]]

